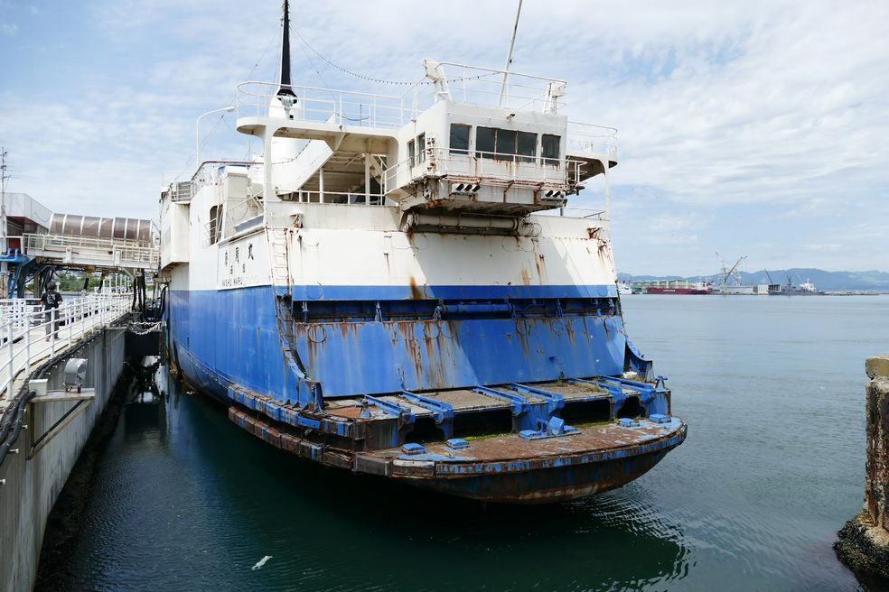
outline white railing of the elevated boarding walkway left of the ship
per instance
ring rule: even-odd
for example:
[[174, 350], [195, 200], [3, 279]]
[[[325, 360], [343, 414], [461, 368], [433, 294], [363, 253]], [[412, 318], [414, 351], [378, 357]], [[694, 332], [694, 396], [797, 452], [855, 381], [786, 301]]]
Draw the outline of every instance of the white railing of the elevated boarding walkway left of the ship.
[[68, 235], [23, 235], [24, 252], [29, 256], [61, 257], [65, 263], [89, 259], [92, 264], [154, 268], [160, 261], [155, 246], [124, 238], [92, 238]]

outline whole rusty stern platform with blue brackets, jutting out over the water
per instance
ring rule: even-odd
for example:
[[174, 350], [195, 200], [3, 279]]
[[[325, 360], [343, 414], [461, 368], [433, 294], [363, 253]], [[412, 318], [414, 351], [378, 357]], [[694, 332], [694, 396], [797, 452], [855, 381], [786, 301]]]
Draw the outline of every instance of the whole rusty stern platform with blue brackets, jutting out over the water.
[[[661, 413], [588, 421], [644, 413], [660, 407], [663, 394], [662, 385], [599, 378], [344, 399], [317, 414], [240, 391], [230, 394], [229, 419], [332, 467], [450, 495], [538, 504], [622, 486], [681, 444], [685, 423]], [[567, 425], [559, 415], [587, 422]], [[480, 430], [497, 425], [503, 433]]]

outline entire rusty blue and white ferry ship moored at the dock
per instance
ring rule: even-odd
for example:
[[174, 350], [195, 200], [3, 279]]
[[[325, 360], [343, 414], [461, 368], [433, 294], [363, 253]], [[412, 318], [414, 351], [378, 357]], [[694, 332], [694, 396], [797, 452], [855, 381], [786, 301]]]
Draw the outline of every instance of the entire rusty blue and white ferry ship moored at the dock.
[[[182, 374], [279, 449], [491, 502], [622, 486], [686, 437], [627, 338], [616, 164], [566, 82], [424, 60], [401, 96], [239, 86], [255, 162], [201, 162], [161, 199]], [[607, 205], [607, 199], [605, 204]]]

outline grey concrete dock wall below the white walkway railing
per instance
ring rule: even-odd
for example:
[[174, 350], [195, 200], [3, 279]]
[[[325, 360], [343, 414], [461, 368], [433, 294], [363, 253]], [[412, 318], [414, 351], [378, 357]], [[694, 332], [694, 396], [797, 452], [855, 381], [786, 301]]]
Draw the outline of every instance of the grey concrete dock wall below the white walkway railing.
[[[89, 360], [84, 388], [94, 388], [96, 398], [32, 458], [33, 441], [59, 421], [76, 402], [39, 402], [29, 405], [27, 429], [0, 466], [0, 590], [29, 591], [34, 584], [43, 531], [52, 505], [68, 479], [71, 467], [124, 368], [124, 335], [120, 329], [98, 331], [70, 352], [70, 357]], [[66, 353], [66, 356], [68, 353]], [[64, 361], [50, 374], [50, 390], [61, 389]]]

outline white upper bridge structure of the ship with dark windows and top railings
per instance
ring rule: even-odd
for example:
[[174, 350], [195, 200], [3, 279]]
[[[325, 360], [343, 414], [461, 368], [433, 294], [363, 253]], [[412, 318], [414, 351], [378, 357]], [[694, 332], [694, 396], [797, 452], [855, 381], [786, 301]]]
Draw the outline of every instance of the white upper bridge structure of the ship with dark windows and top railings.
[[558, 113], [564, 81], [424, 67], [403, 95], [239, 85], [238, 130], [264, 139], [264, 186], [282, 200], [363, 194], [404, 210], [523, 216], [564, 207], [616, 165], [613, 128]]

